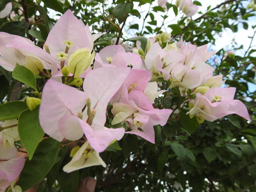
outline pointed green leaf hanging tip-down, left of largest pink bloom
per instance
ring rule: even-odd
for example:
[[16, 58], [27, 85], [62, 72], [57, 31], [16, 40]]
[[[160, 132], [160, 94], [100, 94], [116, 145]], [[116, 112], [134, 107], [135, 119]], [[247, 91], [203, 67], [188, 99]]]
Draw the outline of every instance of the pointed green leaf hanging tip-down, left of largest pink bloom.
[[37, 145], [44, 136], [44, 131], [39, 123], [38, 114], [39, 106], [33, 111], [27, 109], [20, 114], [18, 121], [20, 141], [28, 152], [29, 160], [32, 159]]

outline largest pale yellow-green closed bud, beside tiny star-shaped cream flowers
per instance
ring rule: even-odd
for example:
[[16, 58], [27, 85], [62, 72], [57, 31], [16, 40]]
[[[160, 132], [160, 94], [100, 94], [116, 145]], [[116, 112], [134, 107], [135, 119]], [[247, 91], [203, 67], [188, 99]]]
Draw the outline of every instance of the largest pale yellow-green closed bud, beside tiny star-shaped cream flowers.
[[89, 48], [82, 48], [72, 53], [68, 59], [68, 68], [70, 73], [74, 74], [74, 77], [79, 77], [92, 63], [95, 56], [95, 52]]

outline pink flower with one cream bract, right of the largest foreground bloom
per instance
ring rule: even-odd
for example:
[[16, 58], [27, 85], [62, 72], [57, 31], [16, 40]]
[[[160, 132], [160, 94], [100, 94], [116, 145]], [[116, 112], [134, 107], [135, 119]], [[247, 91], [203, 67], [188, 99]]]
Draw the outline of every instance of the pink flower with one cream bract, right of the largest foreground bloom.
[[[172, 113], [171, 109], [155, 109], [153, 108], [148, 97], [143, 93], [134, 91], [131, 98], [141, 98], [141, 101], [137, 99], [130, 100], [128, 104], [114, 103], [113, 114], [114, 119], [112, 124], [118, 124], [126, 121], [131, 131], [125, 133], [131, 133], [138, 135], [151, 143], [155, 143], [154, 125], [164, 126]], [[144, 97], [144, 98], [143, 98]], [[147, 106], [147, 107], [145, 107]]]

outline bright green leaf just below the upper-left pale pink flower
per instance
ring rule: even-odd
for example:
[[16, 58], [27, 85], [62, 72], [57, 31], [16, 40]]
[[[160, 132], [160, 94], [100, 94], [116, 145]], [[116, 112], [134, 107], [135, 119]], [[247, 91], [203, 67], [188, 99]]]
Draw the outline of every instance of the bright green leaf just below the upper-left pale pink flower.
[[36, 77], [34, 73], [25, 66], [17, 63], [16, 67], [13, 69], [12, 77], [37, 91]]

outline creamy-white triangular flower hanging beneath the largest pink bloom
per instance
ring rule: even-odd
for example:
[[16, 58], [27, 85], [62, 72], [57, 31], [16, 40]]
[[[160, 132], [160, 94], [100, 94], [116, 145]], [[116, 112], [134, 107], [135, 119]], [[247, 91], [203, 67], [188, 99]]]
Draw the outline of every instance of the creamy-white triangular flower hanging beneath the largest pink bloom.
[[63, 171], [69, 173], [94, 165], [106, 167], [106, 164], [100, 158], [99, 152], [94, 151], [89, 145], [89, 142], [86, 141], [81, 148], [78, 149], [71, 161], [63, 167]]

